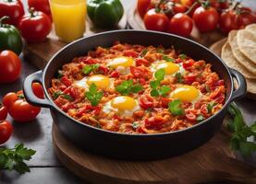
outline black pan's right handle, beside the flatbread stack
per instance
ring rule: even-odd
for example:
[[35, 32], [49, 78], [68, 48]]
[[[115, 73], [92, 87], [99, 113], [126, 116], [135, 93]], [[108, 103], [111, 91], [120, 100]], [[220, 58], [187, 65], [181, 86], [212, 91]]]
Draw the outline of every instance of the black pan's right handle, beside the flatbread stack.
[[236, 89], [233, 92], [233, 95], [230, 99], [230, 101], [234, 101], [235, 99], [243, 98], [246, 96], [247, 92], [247, 84], [246, 80], [241, 73], [239, 73], [237, 70], [229, 68], [229, 71], [231, 75], [238, 81], [238, 89]]

